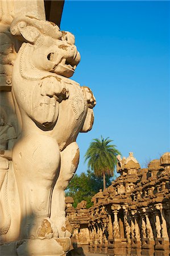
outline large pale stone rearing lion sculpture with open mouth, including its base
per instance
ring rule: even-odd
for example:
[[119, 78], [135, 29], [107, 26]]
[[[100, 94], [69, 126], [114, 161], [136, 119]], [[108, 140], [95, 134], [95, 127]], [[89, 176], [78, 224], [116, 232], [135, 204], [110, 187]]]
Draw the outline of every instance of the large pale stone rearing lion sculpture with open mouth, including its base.
[[8, 35], [11, 59], [2, 63], [11, 66], [11, 88], [2, 96], [11, 95], [15, 125], [1, 112], [1, 255], [64, 255], [72, 235], [64, 190], [78, 166], [77, 135], [92, 129], [96, 100], [69, 79], [80, 62], [70, 32], [18, 15]]

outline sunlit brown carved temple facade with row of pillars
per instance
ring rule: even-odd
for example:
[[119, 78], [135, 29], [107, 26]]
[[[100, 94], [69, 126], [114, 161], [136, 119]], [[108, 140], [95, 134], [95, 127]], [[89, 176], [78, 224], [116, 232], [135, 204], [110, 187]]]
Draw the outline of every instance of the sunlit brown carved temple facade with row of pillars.
[[86, 204], [66, 198], [73, 245], [107, 255], [169, 255], [170, 153], [141, 169], [132, 153], [118, 156], [121, 174]]

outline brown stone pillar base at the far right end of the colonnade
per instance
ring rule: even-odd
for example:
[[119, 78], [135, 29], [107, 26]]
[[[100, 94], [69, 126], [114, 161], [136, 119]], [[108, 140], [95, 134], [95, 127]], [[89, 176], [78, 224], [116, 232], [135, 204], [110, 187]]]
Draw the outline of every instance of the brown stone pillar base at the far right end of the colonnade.
[[169, 256], [169, 241], [164, 238], [155, 240], [155, 256]]

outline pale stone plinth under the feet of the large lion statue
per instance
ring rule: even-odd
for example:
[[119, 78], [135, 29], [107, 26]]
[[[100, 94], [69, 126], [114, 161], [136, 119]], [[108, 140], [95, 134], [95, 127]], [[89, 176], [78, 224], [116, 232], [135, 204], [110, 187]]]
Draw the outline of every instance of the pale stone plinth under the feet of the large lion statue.
[[0, 246], [1, 256], [61, 256], [66, 255], [71, 246], [70, 238], [30, 239]]

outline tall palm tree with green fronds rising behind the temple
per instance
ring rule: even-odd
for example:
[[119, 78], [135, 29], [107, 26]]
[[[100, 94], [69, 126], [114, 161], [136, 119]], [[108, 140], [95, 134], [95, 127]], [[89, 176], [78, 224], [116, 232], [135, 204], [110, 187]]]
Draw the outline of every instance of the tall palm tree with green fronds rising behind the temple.
[[113, 176], [117, 155], [121, 155], [115, 147], [110, 144], [111, 139], [93, 139], [85, 154], [85, 162], [88, 160], [88, 168], [94, 171], [96, 176], [103, 176], [103, 189], [106, 188], [106, 174]]

